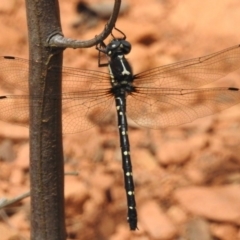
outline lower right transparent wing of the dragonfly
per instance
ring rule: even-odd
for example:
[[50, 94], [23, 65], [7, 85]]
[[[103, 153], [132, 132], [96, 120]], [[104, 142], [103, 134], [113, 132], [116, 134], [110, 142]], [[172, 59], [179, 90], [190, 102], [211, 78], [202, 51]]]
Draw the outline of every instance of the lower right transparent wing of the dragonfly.
[[239, 102], [237, 88], [141, 88], [127, 97], [127, 113], [141, 126], [163, 128], [191, 122]]

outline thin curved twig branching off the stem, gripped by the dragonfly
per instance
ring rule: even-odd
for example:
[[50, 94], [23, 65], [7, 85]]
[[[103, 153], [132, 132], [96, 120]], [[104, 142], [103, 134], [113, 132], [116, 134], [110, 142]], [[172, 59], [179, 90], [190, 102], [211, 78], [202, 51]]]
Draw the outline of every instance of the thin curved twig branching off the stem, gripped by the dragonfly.
[[112, 31], [117, 21], [118, 13], [121, 7], [121, 0], [115, 0], [113, 12], [110, 16], [104, 30], [96, 35], [94, 38], [86, 41], [74, 40], [65, 38], [61, 33], [53, 33], [48, 38], [47, 47], [60, 47], [60, 48], [89, 48], [102, 42]]

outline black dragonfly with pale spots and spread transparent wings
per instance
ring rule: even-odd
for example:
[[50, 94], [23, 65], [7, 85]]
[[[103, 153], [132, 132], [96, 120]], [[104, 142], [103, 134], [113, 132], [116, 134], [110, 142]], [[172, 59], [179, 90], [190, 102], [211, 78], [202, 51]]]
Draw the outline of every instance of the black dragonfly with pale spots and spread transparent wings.
[[[108, 58], [109, 72], [55, 68], [62, 71], [63, 133], [76, 133], [101, 121], [115, 102], [122, 165], [131, 230], [137, 229], [137, 211], [130, 159], [127, 116], [140, 126], [158, 129], [191, 122], [240, 102], [235, 87], [202, 88], [240, 68], [240, 45], [204, 57], [156, 67], [134, 75], [125, 55], [131, 44], [125, 35], [97, 47]], [[29, 61], [0, 58], [0, 87], [13, 94], [0, 96], [0, 120], [27, 124]], [[30, 96], [31, 97], [31, 96]], [[31, 106], [39, 100], [31, 97]]]

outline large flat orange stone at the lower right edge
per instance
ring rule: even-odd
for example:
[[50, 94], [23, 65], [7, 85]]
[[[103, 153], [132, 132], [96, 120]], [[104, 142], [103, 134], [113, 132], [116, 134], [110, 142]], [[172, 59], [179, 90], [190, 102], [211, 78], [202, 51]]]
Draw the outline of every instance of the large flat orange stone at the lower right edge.
[[240, 185], [186, 187], [178, 189], [175, 198], [194, 215], [240, 224]]

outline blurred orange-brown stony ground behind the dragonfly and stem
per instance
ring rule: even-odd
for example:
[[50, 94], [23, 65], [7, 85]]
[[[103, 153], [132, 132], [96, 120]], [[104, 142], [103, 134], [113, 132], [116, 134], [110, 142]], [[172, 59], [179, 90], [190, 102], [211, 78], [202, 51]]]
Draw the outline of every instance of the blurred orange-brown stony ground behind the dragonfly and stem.
[[[112, 1], [86, 1], [100, 4]], [[123, 1], [124, 2], [124, 1]], [[105, 20], [84, 18], [60, 0], [65, 36], [89, 39]], [[131, 0], [117, 27], [132, 43], [135, 73], [240, 43], [240, 2]], [[95, 5], [93, 5], [95, 6]], [[101, 6], [104, 6], [101, 8]], [[23, 0], [0, 2], [0, 55], [28, 58]], [[68, 49], [64, 65], [97, 69], [97, 51]], [[225, 78], [240, 87], [237, 73]], [[235, 81], [234, 79], [237, 79]], [[234, 86], [232, 86], [234, 85]], [[1, 111], [1, 109], [0, 109]], [[114, 124], [64, 136], [68, 239], [240, 239], [240, 105], [159, 131], [130, 122], [138, 231], [126, 222], [121, 155]], [[28, 129], [0, 122], [0, 198], [29, 190]], [[29, 239], [29, 199], [0, 210], [0, 239]]]

